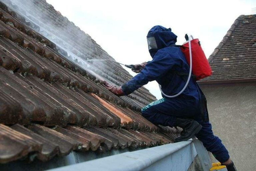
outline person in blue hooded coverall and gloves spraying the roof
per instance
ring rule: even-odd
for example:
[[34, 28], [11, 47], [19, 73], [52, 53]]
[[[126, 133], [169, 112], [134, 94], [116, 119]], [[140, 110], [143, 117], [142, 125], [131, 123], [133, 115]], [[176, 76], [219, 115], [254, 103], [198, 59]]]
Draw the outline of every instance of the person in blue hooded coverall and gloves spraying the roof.
[[[170, 28], [154, 26], [148, 32], [147, 41], [153, 59], [136, 64], [133, 71], [138, 74], [120, 87], [104, 82], [109, 91], [124, 96], [154, 80], [161, 85], [164, 94], [171, 96], [181, 91], [188, 78], [189, 65], [180, 47], [175, 46], [177, 36]], [[235, 171], [227, 149], [213, 134], [206, 99], [195, 79], [190, 78], [187, 88], [179, 96], [162, 96], [162, 99], [142, 108], [142, 116], [155, 125], [183, 128], [181, 136], [174, 142], [185, 141], [195, 135], [219, 162], [226, 165], [228, 171]]]

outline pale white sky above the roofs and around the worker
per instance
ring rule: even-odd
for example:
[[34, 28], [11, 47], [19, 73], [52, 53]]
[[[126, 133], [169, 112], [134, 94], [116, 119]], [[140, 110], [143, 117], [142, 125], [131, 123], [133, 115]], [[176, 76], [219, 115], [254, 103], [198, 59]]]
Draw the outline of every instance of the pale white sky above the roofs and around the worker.
[[[146, 35], [155, 25], [171, 28], [178, 36], [176, 44], [185, 42], [186, 33], [199, 38], [208, 58], [237, 17], [252, 14], [252, 8], [256, 7], [255, 0], [46, 1], [89, 34], [116, 61], [125, 64], [152, 59]], [[161, 98], [156, 81], [145, 87]]]

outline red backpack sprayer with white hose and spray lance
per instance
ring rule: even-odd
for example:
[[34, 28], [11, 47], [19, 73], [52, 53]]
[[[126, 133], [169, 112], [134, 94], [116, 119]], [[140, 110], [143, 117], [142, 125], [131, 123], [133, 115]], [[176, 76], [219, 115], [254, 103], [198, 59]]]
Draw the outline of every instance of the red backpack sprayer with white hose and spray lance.
[[[198, 39], [194, 39], [193, 36], [185, 36], [185, 39], [187, 42], [183, 43], [183, 45], [176, 45], [181, 48], [181, 51], [184, 53], [186, 60], [189, 64], [189, 74], [188, 74], [188, 79], [183, 87], [183, 89], [177, 93], [176, 95], [173, 96], [168, 96], [164, 94], [164, 92], [161, 89], [161, 85], [159, 84], [159, 88], [162, 92], [162, 94], [166, 97], [173, 98], [179, 96], [187, 87], [189, 80], [191, 78], [191, 75], [193, 74], [196, 78], [196, 80], [203, 79], [205, 77], [208, 77], [212, 74], [211, 67], [208, 63], [208, 60], [204, 54], [204, 51], [201, 47], [200, 41]], [[122, 64], [120, 62], [117, 62], [115, 60], [111, 59], [89, 59], [87, 61], [113, 61], [116, 63], [119, 63], [121, 65], [124, 65], [128, 68], [135, 69], [134, 65], [126, 65]], [[142, 70], [143, 68], [136, 68], [138, 70]]]

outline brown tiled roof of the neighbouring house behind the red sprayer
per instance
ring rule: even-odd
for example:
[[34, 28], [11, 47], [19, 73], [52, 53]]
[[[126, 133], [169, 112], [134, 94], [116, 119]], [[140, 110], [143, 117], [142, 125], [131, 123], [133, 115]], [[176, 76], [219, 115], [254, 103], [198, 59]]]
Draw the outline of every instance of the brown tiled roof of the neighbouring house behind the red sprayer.
[[239, 16], [208, 61], [213, 74], [201, 81], [256, 78], [256, 15]]

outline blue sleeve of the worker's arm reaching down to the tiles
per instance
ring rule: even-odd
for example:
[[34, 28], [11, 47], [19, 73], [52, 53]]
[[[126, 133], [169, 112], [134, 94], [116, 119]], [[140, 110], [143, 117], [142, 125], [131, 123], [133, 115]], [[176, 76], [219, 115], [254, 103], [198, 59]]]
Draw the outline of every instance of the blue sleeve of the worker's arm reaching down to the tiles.
[[149, 81], [160, 78], [173, 66], [173, 64], [173, 58], [171, 58], [168, 53], [163, 50], [158, 50], [154, 55], [153, 60], [147, 63], [145, 68], [139, 74], [126, 84], [122, 85], [124, 95], [132, 93]]

